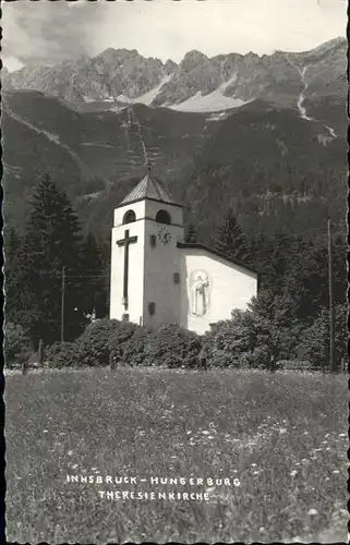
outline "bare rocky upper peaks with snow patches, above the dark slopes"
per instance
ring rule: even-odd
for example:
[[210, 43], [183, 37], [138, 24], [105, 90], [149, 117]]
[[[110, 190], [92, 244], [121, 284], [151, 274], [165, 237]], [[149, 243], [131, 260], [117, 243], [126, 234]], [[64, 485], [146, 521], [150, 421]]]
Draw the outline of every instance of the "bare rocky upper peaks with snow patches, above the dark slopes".
[[335, 38], [312, 51], [262, 57], [249, 52], [208, 58], [193, 50], [177, 64], [146, 59], [135, 49], [109, 48], [92, 59], [4, 72], [3, 85], [41, 90], [82, 106], [116, 100], [213, 111], [262, 98], [291, 107], [302, 92], [305, 100], [343, 97], [346, 52], [346, 39]]

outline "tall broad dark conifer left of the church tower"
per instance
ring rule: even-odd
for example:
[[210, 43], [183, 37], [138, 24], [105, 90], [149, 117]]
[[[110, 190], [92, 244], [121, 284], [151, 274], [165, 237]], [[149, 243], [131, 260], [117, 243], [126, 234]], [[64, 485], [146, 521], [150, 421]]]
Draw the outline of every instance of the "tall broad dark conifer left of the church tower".
[[81, 234], [75, 213], [64, 192], [44, 175], [34, 192], [20, 256], [22, 313], [20, 324], [28, 332], [33, 349], [41, 338], [60, 338], [62, 267], [65, 267], [64, 330], [67, 340], [86, 324], [82, 276]]

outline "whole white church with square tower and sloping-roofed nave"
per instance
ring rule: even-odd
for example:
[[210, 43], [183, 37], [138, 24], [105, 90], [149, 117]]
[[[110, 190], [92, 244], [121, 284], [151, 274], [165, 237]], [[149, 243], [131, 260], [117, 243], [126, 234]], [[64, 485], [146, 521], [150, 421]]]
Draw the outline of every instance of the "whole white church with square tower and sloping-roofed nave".
[[183, 206], [150, 168], [114, 209], [110, 318], [146, 327], [180, 326], [202, 335], [245, 310], [255, 270], [203, 244], [184, 242]]

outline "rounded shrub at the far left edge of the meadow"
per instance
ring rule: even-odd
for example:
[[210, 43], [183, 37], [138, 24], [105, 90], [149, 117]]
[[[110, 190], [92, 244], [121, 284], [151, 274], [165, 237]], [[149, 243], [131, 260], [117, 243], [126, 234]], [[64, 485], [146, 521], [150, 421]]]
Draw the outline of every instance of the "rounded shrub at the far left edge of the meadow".
[[31, 355], [29, 338], [20, 324], [5, 322], [4, 361], [8, 367], [22, 365]]

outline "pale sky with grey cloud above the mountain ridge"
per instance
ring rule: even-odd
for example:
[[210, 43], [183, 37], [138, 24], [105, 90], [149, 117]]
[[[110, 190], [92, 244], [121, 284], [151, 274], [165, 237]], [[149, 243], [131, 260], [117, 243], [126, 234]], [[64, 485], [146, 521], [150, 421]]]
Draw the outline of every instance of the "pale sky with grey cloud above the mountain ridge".
[[180, 62], [219, 53], [304, 51], [346, 36], [347, 0], [17, 0], [2, 3], [9, 70], [108, 47]]

